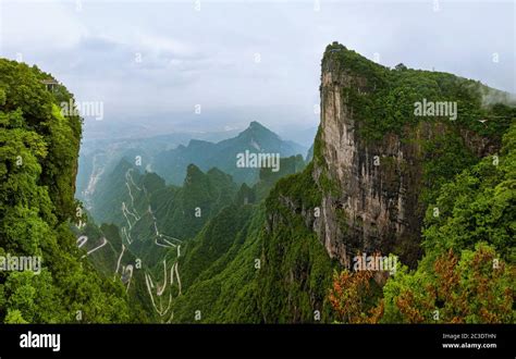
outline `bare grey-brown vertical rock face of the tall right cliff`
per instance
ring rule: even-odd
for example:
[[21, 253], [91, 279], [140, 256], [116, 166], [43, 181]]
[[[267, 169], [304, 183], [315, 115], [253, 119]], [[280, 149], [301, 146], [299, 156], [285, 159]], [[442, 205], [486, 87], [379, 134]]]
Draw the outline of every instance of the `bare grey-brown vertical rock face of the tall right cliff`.
[[[410, 166], [418, 148], [402, 145], [395, 135], [368, 145], [358, 136], [354, 103], [342, 96], [355, 87], [368, 94], [368, 82], [358, 74], [342, 72], [325, 59], [321, 85], [320, 141], [324, 165], [337, 195], [324, 194], [321, 239], [330, 257], [349, 265], [356, 251], [390, 252], [403, 238], [419, 236], [421, 211], [410, 191], [420, 180]], [[422, 128], [421, 135], [428, 135]], [[316, 175], [320, 172], [315, 169]], [[415, 223], [416, 222], [416, 223]]]

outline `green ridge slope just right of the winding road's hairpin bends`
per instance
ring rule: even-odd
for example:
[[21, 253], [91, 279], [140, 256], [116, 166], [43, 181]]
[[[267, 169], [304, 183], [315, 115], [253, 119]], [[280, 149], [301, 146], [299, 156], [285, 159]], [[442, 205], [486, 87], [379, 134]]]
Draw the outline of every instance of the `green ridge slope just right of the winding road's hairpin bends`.
[[[182, 246], [184, 256], [179, 261], [183, 293], [173, 301], [172, 322], [263, 321], [261, 307], [268, 299], [261, 295], [261, 283], [258, 282], [267, 265], [262, 262], [263, 199], [279, 178], [303, 171], [304, 165], [303, 158], [297, 156], [281, 159], [279, 172], [261, 169], [260, 180], [255, 186], [242, 184], [232, 195], [231, 202], [212, 212], [198, 234], [185, 240]], [[189, 178], [201, 176], [195, 166], [188, 168], [188, 173]], [[213, 174], [219, 178], [223, 175], [218, 170], [208, 172], [208, 175]], [[188, 183], [185, 182], [185, 186]], [[191, 197], [191, 200], [197, 202], [195, 198]], [[175, 253], [169, 251], [167, 261], [174, 260], [174, 257]]]

